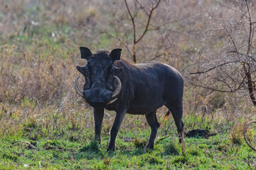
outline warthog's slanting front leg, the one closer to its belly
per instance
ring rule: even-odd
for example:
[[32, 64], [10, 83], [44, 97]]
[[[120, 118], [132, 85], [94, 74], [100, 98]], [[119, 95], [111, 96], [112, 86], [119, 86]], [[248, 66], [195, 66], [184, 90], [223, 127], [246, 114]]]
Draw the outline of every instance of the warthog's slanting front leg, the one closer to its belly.
[[122, 121], [124, 120], [126, 111], [117, 111], [117, 115], [114, 118], [114, 124], [112, 125], [112, 128], [110, 130], [110, 144], [107, 147], [107, 151], [114, 151], [114, 145], [115, 140], [117, 138], [117, 133], [119, 131], [119, 128], [122, 124]]

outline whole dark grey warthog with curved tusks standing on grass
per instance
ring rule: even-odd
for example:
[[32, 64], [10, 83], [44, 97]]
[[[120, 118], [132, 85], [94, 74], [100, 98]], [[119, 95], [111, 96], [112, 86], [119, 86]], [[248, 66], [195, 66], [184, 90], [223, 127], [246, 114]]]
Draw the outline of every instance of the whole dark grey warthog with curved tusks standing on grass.
[[176, 69], [167, 64], [149, 62], [131, 64], [120, 59], [122, 49], [111, 52], [100, 50], [92, 54], [87, 47], [80, 47], [82, 59], [87, 60], [85, 67], [76, 68], [85, 77], [83, 91], [75, 90], [93, 107], [95, 120], [95, 140], [100, 142], [104, 108], [115, 111], [114, 124], [110, 130], [110, 142], [107, 150], [114, 150], [115, 140], [125, 113], [145, 115], [151, 128], [146, 148], [154, 148], [159, 123], [156, 109], [169, 108], [178, 130], [179, 142], [183, 140], [183, 79]]

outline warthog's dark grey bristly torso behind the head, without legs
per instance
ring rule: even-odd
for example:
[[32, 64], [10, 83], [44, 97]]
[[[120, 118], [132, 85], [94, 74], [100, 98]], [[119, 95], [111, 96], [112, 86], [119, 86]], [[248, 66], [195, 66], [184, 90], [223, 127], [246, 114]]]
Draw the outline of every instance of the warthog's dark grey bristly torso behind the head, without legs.
[[127, 77], [122, 84], [127, 83], [125, 90], [132, 93], [128, 113], [145, 114], [163, 106], [166, 100], [182, 100], [183, 79], [176, 69], [158, 62], [133, 65], [122, 60], [118, 65], [124, 67]]

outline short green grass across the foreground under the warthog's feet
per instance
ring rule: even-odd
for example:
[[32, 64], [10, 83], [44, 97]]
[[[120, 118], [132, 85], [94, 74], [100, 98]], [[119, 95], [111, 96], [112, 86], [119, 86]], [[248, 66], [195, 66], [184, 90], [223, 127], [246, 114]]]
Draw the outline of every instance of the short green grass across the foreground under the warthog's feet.
[[[188, 118], [185, 118], [188, 120]], [[166, 123], [168, 124], [168, 123]], [[243, 140], [236, 144], [230, 132], [204, 139], [186, 138], [181, 152], [176, 130], [159, 129], [154, 150], [145, 151], [149, 128], [121, 129], [115, 152], [106, 152], [109, 135], [93, 140], [93, 128], [79, 134], [72, 128], [47, 132], [33, 123], [13, 135], [1, 135], [0, 169], [253, 169], [256, 153]], [[105, 130], [105, 127], [103, 127]], [[159, 140], [166, 137], [164, 140]], [[126, 140], [129, 139], [129, 140]], [[39, 164], [40, 162], [40, 164]], [[28, 166], [28, 167], [26, 167]]]

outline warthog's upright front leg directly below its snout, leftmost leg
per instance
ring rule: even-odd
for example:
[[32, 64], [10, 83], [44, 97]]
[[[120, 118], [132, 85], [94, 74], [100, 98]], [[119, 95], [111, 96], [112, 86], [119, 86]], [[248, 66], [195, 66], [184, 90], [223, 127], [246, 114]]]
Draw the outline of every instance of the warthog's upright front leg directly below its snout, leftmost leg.
[[93, 108], [93, 114], [94, 114], [94, 120], [95, 120], [95, 140], [100, 142], [104, 108]]

